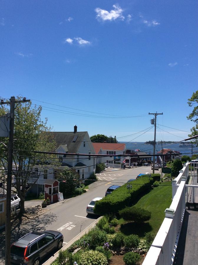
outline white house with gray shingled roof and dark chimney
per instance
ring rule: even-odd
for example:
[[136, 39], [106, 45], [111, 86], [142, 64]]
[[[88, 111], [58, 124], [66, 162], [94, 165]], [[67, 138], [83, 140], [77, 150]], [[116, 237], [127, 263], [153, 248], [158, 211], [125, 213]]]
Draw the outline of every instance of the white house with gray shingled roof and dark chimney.
[[29, 183], [37, 182], [33, 185], [32, 191], [39, 194], [44, 191], [44, 183], [47, 180], [57, 178], [58, 172], [64, 168], [74, 168], [80, 175], [80, 179], [89, 178], [90, 174], [95, 172], [96, 158], [91, 156], [67, 155], [67, 153], [95, 154], [93, 144], [90, 140], [88, 132], [77, 132], [77, 126], [74, 126], [73, 132], [49, 132], [52, 134], [53, 140], [56, 142], [55, 152], [65, 153], [58, 155], [61, 165], [54, 168], [53, 165], [34, 166], [32, 177]]

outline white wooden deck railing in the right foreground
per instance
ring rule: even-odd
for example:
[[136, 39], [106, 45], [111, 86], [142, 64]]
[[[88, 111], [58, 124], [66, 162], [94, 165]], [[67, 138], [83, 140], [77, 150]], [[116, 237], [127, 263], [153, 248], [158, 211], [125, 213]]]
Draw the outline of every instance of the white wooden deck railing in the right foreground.
[[165, 210], [164, 221], [146, 255], [143, 265], [171, 265], [186, 208], [186, 180], [189, 163], [186, 163], [176, 179], [172, 181], [172, 203]]

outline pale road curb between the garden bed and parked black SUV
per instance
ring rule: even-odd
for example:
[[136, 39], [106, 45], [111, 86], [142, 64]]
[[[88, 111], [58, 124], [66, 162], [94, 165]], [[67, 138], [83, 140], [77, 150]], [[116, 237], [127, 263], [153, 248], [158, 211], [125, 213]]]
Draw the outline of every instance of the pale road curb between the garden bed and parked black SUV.
[[[67, 245], [65, 245], [64, 247], [62, 247], [61, 250], [65, 250], [68, 247], [70, 247], [76, 240], [80, 239], [82, 236], [85, 235], [85, 233], [87, 233], [91, 228], [93, 228], [98, 221], [100, 220], [100, 218], [102, 218], [103, 216], [100, 216], [98, 219], [96, 219], [93, 223], [91, 223], [87, 228], [85, 228], [82, 232], [80, 232], [77, 236], [75, 236], [72, 240], [70, 240]], [[51, 258], [49, 258], [47, 261], [45, 261], [43, 263], [43, 265], [50, 265], [53, 261], [55, 261], [55, 259], [58, 257], [59, 251], [57, 251]]]

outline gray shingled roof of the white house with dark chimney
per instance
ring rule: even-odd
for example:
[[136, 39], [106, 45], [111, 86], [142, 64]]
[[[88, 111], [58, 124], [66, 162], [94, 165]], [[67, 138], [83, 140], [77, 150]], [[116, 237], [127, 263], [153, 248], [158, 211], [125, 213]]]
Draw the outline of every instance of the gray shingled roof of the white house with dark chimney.
[[[48, 132], [53, 135], [53, 140], [56, 142], [56, 148], [60, 145], [67, 145], [68, 153], [77, 153], [87, 132]], [[78, 136], [75, 143], [72, 143], [74, 136]], [[56, 149], [55, 148], [55, 149]]]

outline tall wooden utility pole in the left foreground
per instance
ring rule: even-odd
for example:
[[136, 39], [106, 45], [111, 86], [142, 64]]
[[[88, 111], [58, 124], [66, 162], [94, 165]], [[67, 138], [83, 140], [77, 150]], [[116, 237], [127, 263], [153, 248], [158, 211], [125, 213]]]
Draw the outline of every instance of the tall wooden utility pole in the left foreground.
[[10, 125], [9, 125], [9, 143], [8, 143], [8, 169], [6, 186], [6, 228], [5, 228], [5, 264], [10, 265], [10, 235], [11, 235], [11, 184], [12, 184], [12, 161], [13, 161], [13, 137], [14, 137], [14, 108], [15, 103], [29, 102], [24, 97], [23, 100], [15, 100], [11, 97], [10, 101], [1, 100], [0, 105], [10, 105]]

